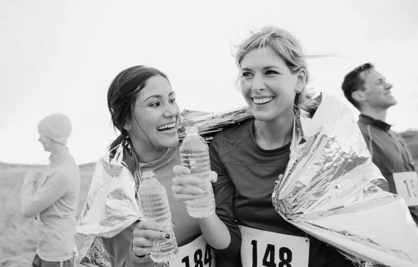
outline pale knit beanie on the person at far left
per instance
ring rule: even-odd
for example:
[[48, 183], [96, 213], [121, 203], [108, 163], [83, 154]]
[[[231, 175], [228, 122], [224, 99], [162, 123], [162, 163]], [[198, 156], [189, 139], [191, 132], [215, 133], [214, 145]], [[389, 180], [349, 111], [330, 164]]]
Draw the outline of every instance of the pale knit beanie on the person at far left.
[[66, 115], [55, 113], [46, 116], [39, 122], [38, 128], [55, 142], [67, 145], [67, 139], [71, 134], [71, 122]]

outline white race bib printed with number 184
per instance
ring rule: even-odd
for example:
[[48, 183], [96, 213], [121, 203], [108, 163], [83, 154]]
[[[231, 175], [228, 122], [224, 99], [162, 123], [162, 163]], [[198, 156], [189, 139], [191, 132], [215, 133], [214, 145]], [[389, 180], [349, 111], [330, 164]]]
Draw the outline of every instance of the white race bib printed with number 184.
[[168, 264], [170, 267], [215, 267], [215, 253], [202, 235], [179, 247], [177, 256]]

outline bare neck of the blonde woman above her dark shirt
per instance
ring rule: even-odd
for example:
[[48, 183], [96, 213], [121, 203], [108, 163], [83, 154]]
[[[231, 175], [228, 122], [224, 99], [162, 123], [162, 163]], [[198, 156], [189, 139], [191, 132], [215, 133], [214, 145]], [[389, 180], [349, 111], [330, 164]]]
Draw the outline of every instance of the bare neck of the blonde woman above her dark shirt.
[[292, 139], [294, 113], [286, 112], [271, 121], [255, 119], [253, 134], [257, 145], [265, 150], [284, 146]]

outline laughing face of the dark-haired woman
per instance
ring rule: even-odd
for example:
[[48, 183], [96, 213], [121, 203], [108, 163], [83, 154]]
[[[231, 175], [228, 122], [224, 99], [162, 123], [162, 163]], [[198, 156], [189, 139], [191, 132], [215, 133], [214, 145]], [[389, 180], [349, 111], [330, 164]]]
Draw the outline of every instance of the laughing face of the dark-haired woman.
[[[129, 128], [131, 139], [148, 149], [163, 150], [179, 143], [177, 124], [180, 109], [168, 81], [158, 75], [148, 79], [138, 93]], [[133, 140], [135, 141], [135, 140]]]

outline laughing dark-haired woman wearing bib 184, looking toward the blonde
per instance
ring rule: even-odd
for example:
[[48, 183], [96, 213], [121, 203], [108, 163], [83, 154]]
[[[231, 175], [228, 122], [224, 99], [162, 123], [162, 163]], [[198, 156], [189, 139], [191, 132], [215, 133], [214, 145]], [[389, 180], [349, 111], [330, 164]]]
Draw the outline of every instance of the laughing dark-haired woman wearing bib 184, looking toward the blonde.
[[[123, 143], [128, 168], [132, 171], [139, 165], [140, 169], [153, 169], [155, 178], [167, 190], [179, 246], [179, 254], [170, 261], [170, 267], [189, 264], [186, 259], [193, 261], [199, 249], [200, 255], [208, 249], [210, 254], [197, 220], [187, 215], [185, 206], [175, 201], [171, 192], [175, 176], [172, 170], [181, 162], [177, 136], [180, 110], [167, 76], [144, 66], [121, 71], [109, 87], [108, 106], [113, 125], [121, 133], [110, 149]], [[113, 267], [154, 267], [149, 256], [151, 238], [168, 239], [169, 235], [157, 223], [139, 221], [112, 238], [103, 238], [103, 243]], [[205, 266], [209, 267], [208, 260]]]

